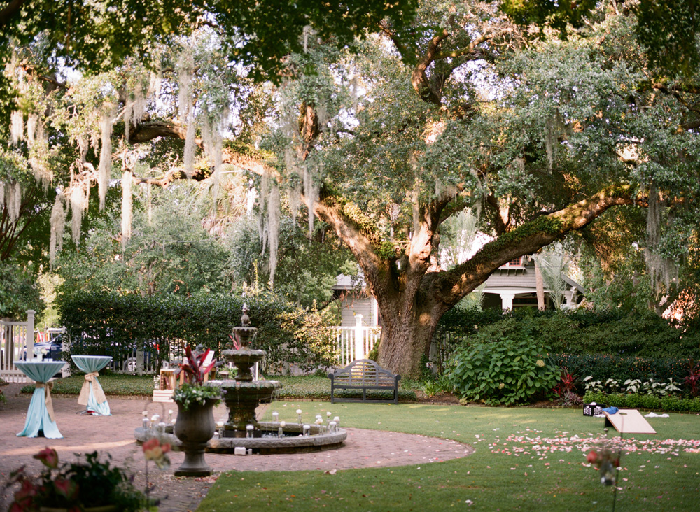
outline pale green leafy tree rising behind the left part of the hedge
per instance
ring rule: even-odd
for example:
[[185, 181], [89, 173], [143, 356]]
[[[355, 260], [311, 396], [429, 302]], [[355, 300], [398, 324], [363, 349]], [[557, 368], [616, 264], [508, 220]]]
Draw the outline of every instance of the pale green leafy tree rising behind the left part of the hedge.
[[59, 291], [143, 297], [223, 292], [228, 251], [202, 227], [208, 198], [201, 189], [182, 182], [148, 197], [144, 187], [130, 240], [121, 240], [118, 215], [99, 222], [80, 250], [59, 257]]

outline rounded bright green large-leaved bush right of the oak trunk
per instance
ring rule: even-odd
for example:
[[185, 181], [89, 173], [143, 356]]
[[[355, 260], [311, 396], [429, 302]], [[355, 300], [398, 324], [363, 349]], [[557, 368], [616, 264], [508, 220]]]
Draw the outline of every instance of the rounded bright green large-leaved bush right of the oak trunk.
[[522, 404], [549, 397], [559, 368], [547, 364], [545, 348], [532, 339], [498, 338], [459, 348], [449, 362], [449, 382], [462, 399]]

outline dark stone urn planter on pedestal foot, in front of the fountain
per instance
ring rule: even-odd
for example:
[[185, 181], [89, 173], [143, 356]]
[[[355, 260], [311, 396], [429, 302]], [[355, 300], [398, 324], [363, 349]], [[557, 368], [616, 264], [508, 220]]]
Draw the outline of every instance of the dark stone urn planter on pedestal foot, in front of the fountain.
[[211, 467], [204, 461], [204, 449], [207, 442], [214, 436], [214, 406], [218, 400], [208, 399], [202, 404], [190, 404], [183, 407], [178, 404], [177, 420], [173, 433], [182, 442], [185, 460], [176, 469], [175, 476], [209, 476]]

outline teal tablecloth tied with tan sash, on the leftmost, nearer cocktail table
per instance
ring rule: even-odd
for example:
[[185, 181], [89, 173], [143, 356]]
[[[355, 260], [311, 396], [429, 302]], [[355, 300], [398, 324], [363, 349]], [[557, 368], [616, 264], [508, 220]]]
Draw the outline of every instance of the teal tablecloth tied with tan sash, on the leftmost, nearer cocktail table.
[[[36, 390], [31, 395], [25, 429], [18, 436], [37, 437], [39, 432], [48, 439], [62, 439], [56, 425], [51, 401], [52, 383], [49, 379], [63, 368], [64, 361], [18, 361], [15, 366], [31, 380], [36, 381]], [[48, 383], [48, 384], [47, 384]]]

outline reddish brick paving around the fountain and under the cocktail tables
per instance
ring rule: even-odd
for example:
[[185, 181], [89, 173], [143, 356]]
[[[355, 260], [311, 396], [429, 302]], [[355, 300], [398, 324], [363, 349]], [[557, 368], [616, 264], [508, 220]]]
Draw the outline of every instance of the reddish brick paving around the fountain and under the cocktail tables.
[[[167, 417], [175, 404], [157, 404], [150, 399], [118, 399], [108, 397], [111, 416], [88, 416], [77, 414], [83, 410], [76, 397], [55, 397], [56, 422], [64, 439], [17, 437], [25, 425], [29, 396], [19, 396], [21, 385], [3, 388], [8, 403], [0, 405], [0, 488], [8, 474], [22, 464], [32, 473], [41, 469], [41, 463], [32, 455], [45, 446], [55, 448], [60, 460], [75, 460], [76, 454], [99, 450], [109, 453], [113, 463], [127, 467], [136, 476], [140, 488], [146, 484], [144, 457], [134, 441], [133, 432], [141, 425], [143, 411], [148, 415]], [[225, 416], [225, 407], [219, 406], [215, 418]], [[348, 429], [348, 439], [343, 448], [304, 455], [234, 455], [207, 454], [207, 462], [215, 471], [268, 471], [268, 470], [313, 470], [350, 469], [363, 467], [400, 466], [425, 464], [463, 457], [472, 453], [470, 446], [455, 441], [437, 439], [397, 432]], [[179, 466], [183, 454], [173, 453], [173, 467]], [[160, 511], [184, 512], [195, 510], [211, 485], [216, 474], [209, 478], [175, 478], [172, 468], [158, 471], [153, 465], [149, 477], [155, 484], [153, 494], [162, 498]], [[3, 501], [4, 499], [4, 501]], [[0, 510], [6, 510], [8, 499], [0, 497]]]

